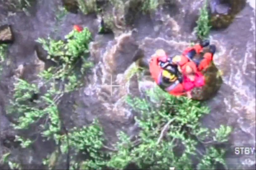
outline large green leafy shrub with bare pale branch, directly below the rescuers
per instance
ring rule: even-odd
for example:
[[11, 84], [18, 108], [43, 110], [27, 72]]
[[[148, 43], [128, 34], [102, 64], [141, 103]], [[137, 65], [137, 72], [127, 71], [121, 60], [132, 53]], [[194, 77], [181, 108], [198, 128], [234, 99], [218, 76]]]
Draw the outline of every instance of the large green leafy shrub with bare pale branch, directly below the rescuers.
[[171, 96], [159, 88], [149, 92], [149, 97], [159, 104], [139, 98], [128, 100], [141, 113], [137, 118], [141, 131], [134, 142], [122, 135], [119, 152], [112, 155], [109, 167], [124, 169], [131, 162], [141, 169], [214, 169], [218, 163], [225, 166], [224, 150], [205, 145], [200, 151], [198, 144], [226, 142], [230, 127], [213, 131], [202, 128], [199, 120], [209, 110], [199, 102]]

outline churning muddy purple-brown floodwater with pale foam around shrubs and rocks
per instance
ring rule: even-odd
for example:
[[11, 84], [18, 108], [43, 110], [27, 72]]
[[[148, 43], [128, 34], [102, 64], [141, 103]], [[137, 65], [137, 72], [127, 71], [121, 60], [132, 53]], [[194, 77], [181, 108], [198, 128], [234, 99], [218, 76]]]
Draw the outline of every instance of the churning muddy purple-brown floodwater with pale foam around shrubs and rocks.
[[[237, 0], [240, 1], [240, 0]], [[2, 7], [0, 1], [0, 11]], [[6, 150], [2, 141], [15, 135], [5, 116], [5, 106], [13, 88], [14, 70], [26, 63], [24, 76], [33, 79], [44, 64], [35, 55], [35, 40], [38, 37], [63, 38], [78, 24], [88, 27], [93, 33], [90, 44], [91, 57], [95, 62], [90, 83], [81, 91], [64, 96], [60, 111], [65, 112], [64, 120], [70, 126], [81, 126], [98, 117], [110, 142], [116, 141], [116, 132], [125, 130], [129, 135], [137, 133], [134, 115], [127, 109], [123, 97], [126, 94], [142, 95], [145, 88], [154, 83], [147, 76], [134, 75], [126, 79], [126, 73], [134, 66], [134, 58], [149, 58], [155, 50], [165, 49], [170, 55], [182, 52], [194, 40], [192, 28], [202, 1], [175, 0], [169, 6], [159, 8], [154, 14], [141, 15], [135, 20], [133, 30], [118, 34], [98, 35], [99, 20], [96, 15], [67, 13], [58, 18], [61, 1], [38, 1], [25, 12], [0, 12], [0, 25], [10, 24], [13, 28], [14, 43], [8, 49], [8, 57], [0, 80], [0, 155]], [[221, 124], [234, 128], [231, 146], [255, 147], [255, 2], [247, 2], [235, 15], [232, 23], [223, 30], [210, 33], [211, 43], [217, 46], [214, 63], [222, 72], [223, 84], [218, 94], [207, 101], [211, 114], [202, 122], [209, 128]], [[111, 79], [115, 85], [111, 94]], [[73, 111], [73, 105], [78, 106]], [[27, 154], [24, 160], [40, 163], [47, 154], [47, 144], [38, 143], [33, 150], [20, 151], [11, 148], [17, 155]], [[51, 148], [48, 146], [47, 148]], [[25, 156], [26, 157], [26, 156]], [[30, 158], [31, 157], [31, 158]], [[242, 165], [245, 169], [255, 168], [254, 156], [227, 155], [230, 167]], [[254, 166], [254, 167], [253, 167]]]

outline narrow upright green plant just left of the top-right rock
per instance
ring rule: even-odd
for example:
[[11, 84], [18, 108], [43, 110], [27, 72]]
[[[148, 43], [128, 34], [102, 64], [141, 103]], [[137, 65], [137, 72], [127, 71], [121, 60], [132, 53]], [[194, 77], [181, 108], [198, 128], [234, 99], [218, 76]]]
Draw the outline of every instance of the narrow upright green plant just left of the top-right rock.
[[199, 18], [197, 20], [197, 27], [195, 27], [197, 38], [201, 40], [209, 39], [210, 29], [211, 26], [209, 13], [207, 10], [207, 0], [205, 0], [203, 7], [200, 9]]

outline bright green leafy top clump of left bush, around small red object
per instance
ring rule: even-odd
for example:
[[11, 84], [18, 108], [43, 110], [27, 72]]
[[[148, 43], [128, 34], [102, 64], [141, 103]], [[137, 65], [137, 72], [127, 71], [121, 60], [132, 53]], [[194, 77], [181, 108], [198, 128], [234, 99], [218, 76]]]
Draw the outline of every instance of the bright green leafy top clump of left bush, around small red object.
[[48, 52], [49, 55], [47, 58], [62, 64], [62, 69], [65, 70], [63, 73], [67, 74], [75, 70], [75, 67], [80, 62], [82, 62], [82, 73], [84, 73], [86, 68], [93, 66], [93, 63], [87, 60], [90, 41], [91, 33], [87, 28], [81, 32], [77, 30], [71, 31], [65, 36], [65, 40], [56, 41], [50, 37], [46, 40], [41, 38], [37, 40]]

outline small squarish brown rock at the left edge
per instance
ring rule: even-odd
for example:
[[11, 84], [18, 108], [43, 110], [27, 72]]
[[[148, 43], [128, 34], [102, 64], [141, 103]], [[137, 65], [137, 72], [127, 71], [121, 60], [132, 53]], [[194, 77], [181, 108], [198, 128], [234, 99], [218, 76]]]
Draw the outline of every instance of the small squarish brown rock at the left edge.
[[1, 25], [0, 26], [0, 44], [3, 43], [13, 43], [14, 36], [11, 25]]

